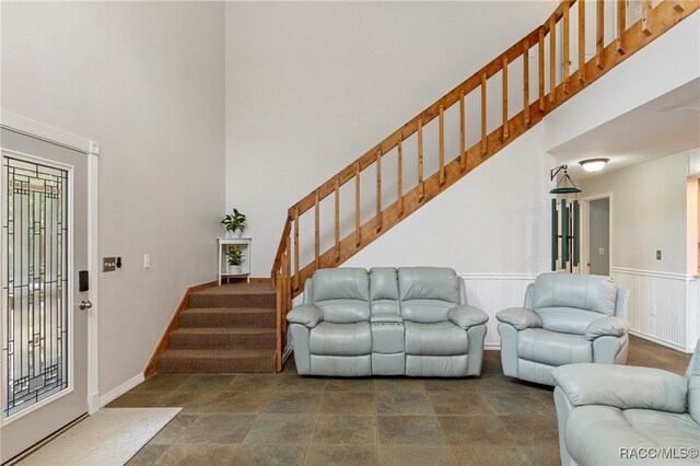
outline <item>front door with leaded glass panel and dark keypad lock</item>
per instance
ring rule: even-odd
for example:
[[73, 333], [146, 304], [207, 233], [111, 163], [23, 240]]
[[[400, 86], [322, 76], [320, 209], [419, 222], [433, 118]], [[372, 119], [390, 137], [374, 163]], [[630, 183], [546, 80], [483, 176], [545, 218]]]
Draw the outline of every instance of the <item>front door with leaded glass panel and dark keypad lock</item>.
[[88, 412], [88, 155], [1, 130], [0, 459]]

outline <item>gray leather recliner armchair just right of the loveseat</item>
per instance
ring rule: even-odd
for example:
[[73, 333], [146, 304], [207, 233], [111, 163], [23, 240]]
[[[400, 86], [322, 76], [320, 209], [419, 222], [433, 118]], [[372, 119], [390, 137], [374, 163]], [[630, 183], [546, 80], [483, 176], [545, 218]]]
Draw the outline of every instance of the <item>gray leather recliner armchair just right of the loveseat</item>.
[[627, 362], [629, 292], [609, 277], [542, 273], [523, 307], [497, 314], [503, 373], [555, 385], [551, 371], [576, 362]]

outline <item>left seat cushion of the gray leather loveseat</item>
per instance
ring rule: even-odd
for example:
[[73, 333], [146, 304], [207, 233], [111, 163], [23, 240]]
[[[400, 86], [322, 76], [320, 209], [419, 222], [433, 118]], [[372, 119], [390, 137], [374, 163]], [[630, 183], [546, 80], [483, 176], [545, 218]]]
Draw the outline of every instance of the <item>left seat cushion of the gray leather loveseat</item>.
[[308, 349], [312, 354], [360, 356], [372, 352], [370, 324], [332, 324], [320, 322], [311, 330]]

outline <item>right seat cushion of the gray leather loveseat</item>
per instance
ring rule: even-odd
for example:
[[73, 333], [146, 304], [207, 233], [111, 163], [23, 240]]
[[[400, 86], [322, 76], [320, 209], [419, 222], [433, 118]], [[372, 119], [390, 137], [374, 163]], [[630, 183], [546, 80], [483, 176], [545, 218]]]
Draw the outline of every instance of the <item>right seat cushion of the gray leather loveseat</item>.
[[452, 322], [420, 324], [404, 322], [406, 328], [406, 353], [420, 356], [466, 354], [467, 333]]

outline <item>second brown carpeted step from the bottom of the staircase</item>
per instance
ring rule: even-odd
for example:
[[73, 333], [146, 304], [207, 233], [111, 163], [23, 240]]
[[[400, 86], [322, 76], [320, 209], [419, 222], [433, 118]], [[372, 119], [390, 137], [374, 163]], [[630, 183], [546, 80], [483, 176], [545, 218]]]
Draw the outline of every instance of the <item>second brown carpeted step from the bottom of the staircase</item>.
[[275, 349], [275, 328], [178, 328], [170, 335], [173, 349]]

